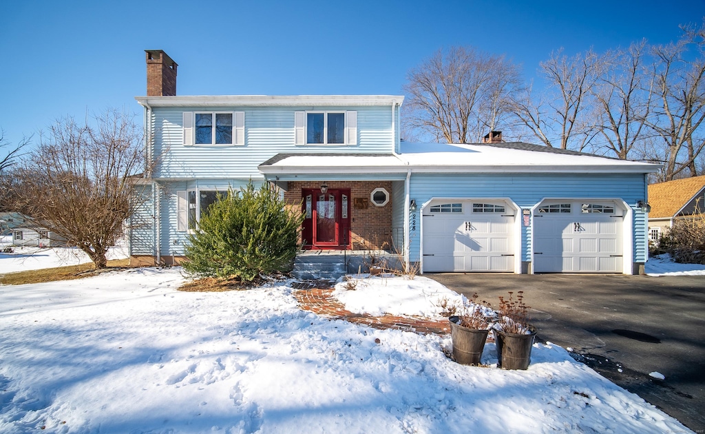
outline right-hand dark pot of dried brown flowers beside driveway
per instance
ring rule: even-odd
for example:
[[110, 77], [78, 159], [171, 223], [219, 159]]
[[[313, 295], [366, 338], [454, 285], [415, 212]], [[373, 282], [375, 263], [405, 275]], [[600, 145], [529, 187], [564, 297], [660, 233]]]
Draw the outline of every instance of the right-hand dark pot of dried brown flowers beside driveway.
[[513, 298], [499, 297], [498, 321], [492, 327], [497, 347], [497, 366], [503, 369], [527, 369], [536, 328], [529, 323], [529, 306], [524, 303], [524, 291]]

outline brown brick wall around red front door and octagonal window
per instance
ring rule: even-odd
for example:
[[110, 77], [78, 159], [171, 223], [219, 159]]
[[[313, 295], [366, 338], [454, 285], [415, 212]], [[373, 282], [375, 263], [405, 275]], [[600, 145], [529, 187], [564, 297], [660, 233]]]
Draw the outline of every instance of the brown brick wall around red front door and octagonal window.
[[[353, 250], [393, 251], [391, 181], [326, 181], [329, 188], [350, 188], [350, 236]], [[288, 183], [284, 200], [291, 206], [301, 203], [303, 188], [320, 188], [321, 181]], [[378, 207], [370, 200], [372, 191], [384, 188], [389, 194], [386, 205]]]

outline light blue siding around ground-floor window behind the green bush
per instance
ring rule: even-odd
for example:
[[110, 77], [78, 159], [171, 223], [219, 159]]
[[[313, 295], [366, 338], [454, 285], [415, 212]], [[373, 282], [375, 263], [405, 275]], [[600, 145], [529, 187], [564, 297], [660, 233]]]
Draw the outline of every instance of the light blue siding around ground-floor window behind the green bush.
[[[161, 255], [183, 255], [184, 246], [188, 243], [188, 231], [177, 231], [177, 192], [185, 190], [204, 190], [228, 192], [228, 188], [239, 191], [247, 186], [247, 179], [209, 179], [200, 181], [180, 181], [160, 183], [161, 192]], [[255, 188], [259, 188], [262, 183], [253, 182]]]

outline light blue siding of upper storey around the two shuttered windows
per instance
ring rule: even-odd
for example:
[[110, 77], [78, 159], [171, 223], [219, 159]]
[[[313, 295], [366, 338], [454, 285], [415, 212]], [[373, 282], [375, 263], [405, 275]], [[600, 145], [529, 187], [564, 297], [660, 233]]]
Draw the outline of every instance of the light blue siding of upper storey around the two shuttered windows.
[[[391, 107], [325, 107], [357, 111], [357, 145], [297, 146], [294, 112], [312, 107], [219, 107], [208, 111], [245, 111], [245, 145], [183, 145], [183, 112], [199, 107], [154, 108], [156, 178], [263, 179], [257, 166], [278, 153], [391, 153], [394, 150]], [[316, 109], [316, 107], [313, 107]]]

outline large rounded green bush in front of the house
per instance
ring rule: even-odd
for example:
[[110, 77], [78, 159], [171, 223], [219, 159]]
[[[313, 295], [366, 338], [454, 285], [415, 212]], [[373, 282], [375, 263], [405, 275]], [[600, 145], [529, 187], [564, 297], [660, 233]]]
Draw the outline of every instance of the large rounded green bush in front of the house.
[[276, 189], [252, 183], [228, 189], [202, 215], [189, 236], [184, 269], [198, 277], [235, 277], [250, 282], [259, 275], [291, 270], [300, 248], [303, 215], [286, 208]]

